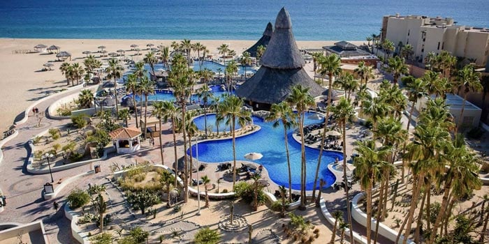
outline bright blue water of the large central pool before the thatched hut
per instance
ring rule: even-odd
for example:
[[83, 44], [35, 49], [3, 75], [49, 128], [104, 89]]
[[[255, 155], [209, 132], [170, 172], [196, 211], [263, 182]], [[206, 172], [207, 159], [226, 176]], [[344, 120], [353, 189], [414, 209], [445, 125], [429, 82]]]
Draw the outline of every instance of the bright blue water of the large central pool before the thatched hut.
[[[215, 115], [210, 114], [208, 121], [212, 118], [215, 120]], [[308, 115], [306, 115], [307, 118]], [[306, 119], [305, 124], [321, 123], [322, 119]], [[289, 185], [289, 172], [287, 168], [287, 158], [284, 147], [284, 132], [282, 126], [273, 128], [272, 123], [265, 122], [263, 119], [253, 117], [253, 123], [261, 126], [261, 130], [254, 132], [251, 135], [236, 138], [236, 158], [237, 160], [246, 160], [246, 153], [258, 152], [263, 154], [263, 158], [256, 160], [268, 170], [270, 179], [278, 185]], [[201, 126], [201, 127], [200, 127]], [[202, 123], [199, 122], [198, 128], [203, 130]], [[289, 130], [289, 151], [291, 158], [292, 171], [292, 188], [300, 190], [300, 144], [292, 138], [294, 130]], [[192, 146], [193, 156], [196, 157], [196, 145]], [[189, 153], [189, 151], [187, 151]], [[312, 190], [314, 184], [314, 174], [316, 173], [316, 165], [319, 156], [319, 149], [306, 147], [307, 160], [307, 190]], [[200, 142], [198, 144], [198, 158], [202, 162], [232, 162], [233, 161], [233, 146], [232, 139], [224, 139], [217, 141]], [[326, 181], [325, 187], [332, 185], [335, 182], [335, 176], [331, 173], [327, 165], [335, 162], [335, 158], [343, 159], [343, 153], [324, 151], [321, 160], [321, 169], [319, 177]], [[240, 167], [241, 165], [236, 165]]]

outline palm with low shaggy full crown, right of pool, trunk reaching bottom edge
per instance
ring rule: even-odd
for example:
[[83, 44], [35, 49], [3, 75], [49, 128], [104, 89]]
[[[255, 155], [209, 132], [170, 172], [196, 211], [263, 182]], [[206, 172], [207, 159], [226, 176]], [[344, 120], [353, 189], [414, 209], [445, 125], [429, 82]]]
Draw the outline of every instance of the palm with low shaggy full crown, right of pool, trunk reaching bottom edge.
[[[381, 161], [387, 153], [388, 148], [377, 148], [374, 140], [367, 140], [365, 142], [358, 142], [356, 151], [360, 157], [355, 158], [353, 161], [356, 172], [358, 172], [358, 178], [360, 186], [365, 190], [367, 201], [367, 243], [372, 241], [372, 188], [374, 183], [379, 181], [381, 175]], [[378, 210], [380, 212], [380, 209]]]

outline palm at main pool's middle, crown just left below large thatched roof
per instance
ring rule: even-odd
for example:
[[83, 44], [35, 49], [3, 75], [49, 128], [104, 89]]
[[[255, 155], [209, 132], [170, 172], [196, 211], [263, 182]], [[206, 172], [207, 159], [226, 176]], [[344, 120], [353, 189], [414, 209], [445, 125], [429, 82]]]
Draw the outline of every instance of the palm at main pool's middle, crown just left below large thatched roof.
[[226, 125], [231, 125], [231, 134], [233, 135], [233, 189], [236, 183], [236, 121], [242, 128], [251, 121], [249, 111], [242, 109], [243, 100], [236, 96], [228, 96], [221, 105], [221, 113], [226, 119]]

